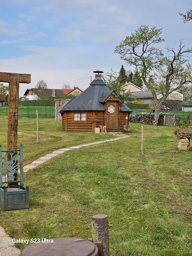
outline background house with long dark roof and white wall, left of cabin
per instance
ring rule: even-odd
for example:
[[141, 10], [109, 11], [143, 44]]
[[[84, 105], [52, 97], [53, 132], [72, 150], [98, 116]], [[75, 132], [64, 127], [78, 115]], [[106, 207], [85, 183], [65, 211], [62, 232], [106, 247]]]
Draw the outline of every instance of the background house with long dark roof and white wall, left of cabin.
[[35, 99], [50, 99], [55, 97], [65, 98], [66, 94], [62, 92], [61, 89], [40, 89], [40, 88], [31, 88], [27, 89], [24, 93], [26, 99], [35, 100]]

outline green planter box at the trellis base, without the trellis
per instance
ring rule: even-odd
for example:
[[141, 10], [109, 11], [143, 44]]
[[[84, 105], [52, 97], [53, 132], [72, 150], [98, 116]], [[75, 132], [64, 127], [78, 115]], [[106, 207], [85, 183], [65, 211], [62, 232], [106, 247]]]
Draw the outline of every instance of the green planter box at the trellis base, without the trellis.
[[0, 206], [4, 211], [29, 209], [29, 188], [23, 186], [0, 188]]

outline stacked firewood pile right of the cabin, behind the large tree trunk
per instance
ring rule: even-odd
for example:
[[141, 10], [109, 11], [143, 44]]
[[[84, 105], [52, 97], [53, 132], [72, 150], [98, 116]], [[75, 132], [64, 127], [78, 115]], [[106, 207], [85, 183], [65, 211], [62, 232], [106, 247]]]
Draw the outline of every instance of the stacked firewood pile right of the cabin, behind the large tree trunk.
[[[131, 117], [129, 119], [130, 122], [140, 122], [140, 123], [146, 123], [146, 124], [152, 124], [154, 121], [154, 114], [136, 114], [135, 116]], [[159, 121], [158, 125], [164, 124], [164, 115], [159, 115]]]

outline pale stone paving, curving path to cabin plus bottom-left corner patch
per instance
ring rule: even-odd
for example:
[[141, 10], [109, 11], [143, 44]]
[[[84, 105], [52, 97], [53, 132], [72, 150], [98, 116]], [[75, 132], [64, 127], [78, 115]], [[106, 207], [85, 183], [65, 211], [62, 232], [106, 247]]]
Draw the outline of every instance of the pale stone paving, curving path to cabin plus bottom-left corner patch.
[[[66, 152], [68, 150], [83, 148], [83, 147], [96, 145], [96, 144], [100, 144], [100, 143], [106, 143], [106, 142], [110, 142], [110, 141], [117, 141], [119, 139], [124, 139], [124, 138], [130, 137], [129, 135], [123, 135], [123, 134], [121, 134], [120, 136], [121, 137], [114, 138], [114, 139], [108, 139], [108, 140], [105, 140], [105, 141], [96, 141], [96, 142], [91, 142], [91, 143], [82, 144], [82, 145], [78, 145], [78, 146], [73, 146], [73, 147], [69, 147], [69, 148], [61, 148], [61, 149], [55, 150], [50, 154], [46, 154], [44, 157], [40, 157], [39, 159], [37, 159], [37, 160], [33, 161], [32, 163], [28, 164], [27, 166], [24, 166], [23, 172], [28, 172], [29, 170], [32, 170], [32, 169], [38, 167], [42, 163], [45, 163], [46, 161], [49, 161], [53, 157], [56, 157], [59, 154], [62, 154], [63, 152]], [[9, 237], [5, 233], [4, 229], [0, 226], [0, 255], [20, 256], [20, 253], [21, 253], [20, 250], [17, 249], [14, 246], [14, 243], [12, 242], [12, 238]]]

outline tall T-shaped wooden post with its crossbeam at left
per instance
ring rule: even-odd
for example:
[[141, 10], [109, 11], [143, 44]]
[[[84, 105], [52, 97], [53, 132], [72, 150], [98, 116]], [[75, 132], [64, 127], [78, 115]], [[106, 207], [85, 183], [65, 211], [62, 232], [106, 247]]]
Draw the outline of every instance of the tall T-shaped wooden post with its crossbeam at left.
[[[0, 72], [0, 82], [9, 83], [7, 150], [14, 150], [17, 149], [18, 143], [19, 84], [31, 83], [31, 75]], [[14, 176], [17, 181], [17, 174]], [[17, 183], [11, 183], [11, 185], [17, 185]]]

